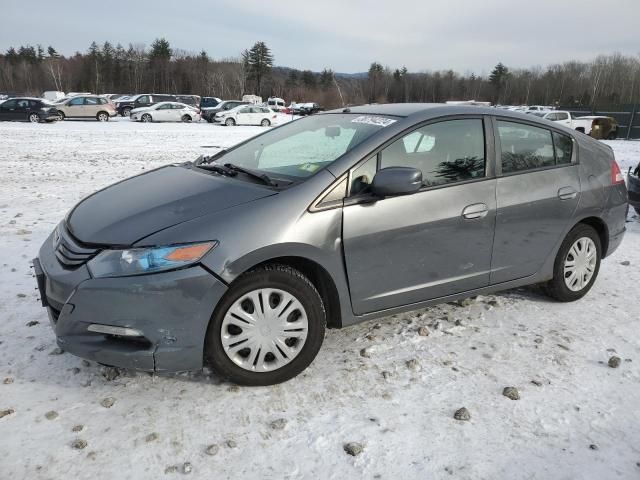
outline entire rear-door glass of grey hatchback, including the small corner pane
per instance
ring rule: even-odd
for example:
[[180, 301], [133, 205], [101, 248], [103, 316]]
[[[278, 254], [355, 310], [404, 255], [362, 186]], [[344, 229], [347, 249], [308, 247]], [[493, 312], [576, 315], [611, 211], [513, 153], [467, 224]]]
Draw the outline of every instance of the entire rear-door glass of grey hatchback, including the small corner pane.
[[544, 128], [498, 121], [502, 173], [571, 163], [573, 140]]

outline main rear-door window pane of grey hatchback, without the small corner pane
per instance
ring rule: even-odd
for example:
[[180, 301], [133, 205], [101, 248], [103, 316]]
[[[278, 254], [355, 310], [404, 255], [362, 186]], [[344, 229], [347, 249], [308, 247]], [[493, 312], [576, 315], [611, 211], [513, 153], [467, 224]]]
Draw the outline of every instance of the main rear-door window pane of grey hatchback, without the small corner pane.
[[498, 135], [502, 173], [534, 170], [556, 164], [549, 130], [499, 120]]

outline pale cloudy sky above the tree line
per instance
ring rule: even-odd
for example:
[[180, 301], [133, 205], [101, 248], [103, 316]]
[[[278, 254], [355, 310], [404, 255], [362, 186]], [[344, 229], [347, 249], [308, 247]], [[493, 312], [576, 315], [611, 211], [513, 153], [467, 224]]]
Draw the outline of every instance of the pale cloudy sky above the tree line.
[[640, 54], [640, 0], [2, 0], [0, 19], [2, 51], [40, 43], [70, 55], [93, 40], [126, 47], [165, 37], [224, 58], [260, 40], [276, 65], [344, 73], [373, 61], [483, 74], [498, 61]]

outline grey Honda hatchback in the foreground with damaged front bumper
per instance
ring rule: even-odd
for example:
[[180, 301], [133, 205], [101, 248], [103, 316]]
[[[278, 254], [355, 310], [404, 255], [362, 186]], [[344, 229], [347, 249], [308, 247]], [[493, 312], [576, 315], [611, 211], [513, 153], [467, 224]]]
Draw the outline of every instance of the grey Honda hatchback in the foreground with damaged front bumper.
[[578, 300], [627, 208], [612, 149], [586, 135], [366, 105], [102, 189], [33, 263], [65, 351], [269, 385], [313, 361], [325, 327], [530, 284]]

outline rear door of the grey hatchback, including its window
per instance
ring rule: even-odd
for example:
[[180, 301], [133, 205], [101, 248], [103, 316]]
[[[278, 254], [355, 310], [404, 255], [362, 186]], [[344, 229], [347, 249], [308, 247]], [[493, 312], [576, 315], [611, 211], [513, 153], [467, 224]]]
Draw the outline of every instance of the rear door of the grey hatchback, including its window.
[[574, 140], [512, 119], [495, 121], [498, 163], [491, 284], [538, 272], [580, 198]]

